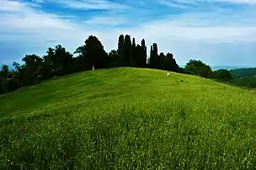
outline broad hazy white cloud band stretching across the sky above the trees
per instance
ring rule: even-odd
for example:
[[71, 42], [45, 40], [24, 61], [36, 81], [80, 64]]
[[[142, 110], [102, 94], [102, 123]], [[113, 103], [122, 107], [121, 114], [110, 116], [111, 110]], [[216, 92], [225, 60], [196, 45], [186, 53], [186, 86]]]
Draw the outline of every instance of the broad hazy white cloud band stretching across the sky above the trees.
[[[159, 51], [173, 52], [179, 64], [199, 56], [205, 62], [213, 63], [212, 57], [219, 55], [216, 52], [220, 48], [218, 44], [230, 44], [228, 47], [232, 50], [238, 44], [256, 42], [253, 9], [184, 13], [140, 23], [133, 28], [107, 27], [128, 22], [124, 17], [99, 16], [78, 24], [72, 19], [64, 19], [65, 16], [36, 11], [24, 3], [8, 0], [0, 1], [1, 11], [0, 43], [22, 44], [24, 54], [44, 54], [48, 46], [56, 44], [63, 44], [72, 52], [90, 34], [96, 35], [109, 51], [117, 48], [117, 39], [121, 33], [129, 33], [136, 38], [137, 43], [145, 38], [148, 49], [149, 45], [157, 42]], [[95, 25], [104, 27], [96, 29]]]

